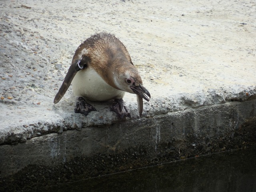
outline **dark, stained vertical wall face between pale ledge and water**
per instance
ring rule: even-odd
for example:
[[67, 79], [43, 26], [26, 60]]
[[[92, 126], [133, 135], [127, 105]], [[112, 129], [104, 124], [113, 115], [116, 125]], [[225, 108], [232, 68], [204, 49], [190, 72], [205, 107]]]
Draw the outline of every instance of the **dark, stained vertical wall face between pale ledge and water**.
[[1, 145], [0, 186], [33, 189], [250, 146], [255, 105], [227, 102]]

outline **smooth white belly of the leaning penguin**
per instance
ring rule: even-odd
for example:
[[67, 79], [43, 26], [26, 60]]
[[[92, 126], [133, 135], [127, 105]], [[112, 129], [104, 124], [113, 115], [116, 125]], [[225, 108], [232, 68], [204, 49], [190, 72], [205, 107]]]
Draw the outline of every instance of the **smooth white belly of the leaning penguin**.
[[94, 70], [80, 70], [72, 80], [73, 94], [91, 101], [106, 101], [123, 98], [125, 92], [107, 84]]

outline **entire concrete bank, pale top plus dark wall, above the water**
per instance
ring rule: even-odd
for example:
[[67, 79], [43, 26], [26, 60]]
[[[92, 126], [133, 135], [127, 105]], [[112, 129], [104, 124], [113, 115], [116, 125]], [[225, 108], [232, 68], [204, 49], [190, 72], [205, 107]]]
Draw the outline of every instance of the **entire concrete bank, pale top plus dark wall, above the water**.
[[[255, 142], [255, 3], [250, 0], [0, 1], [0, 191], [35, 190]], [[111, 5], [111, 6], [110, 6]], [[228, 14], [227, 14], [228, 13]], [[116, 34], [152, 100], [120, 121], [111, 102], [74, 114], [53, 98], [74, 51]]]

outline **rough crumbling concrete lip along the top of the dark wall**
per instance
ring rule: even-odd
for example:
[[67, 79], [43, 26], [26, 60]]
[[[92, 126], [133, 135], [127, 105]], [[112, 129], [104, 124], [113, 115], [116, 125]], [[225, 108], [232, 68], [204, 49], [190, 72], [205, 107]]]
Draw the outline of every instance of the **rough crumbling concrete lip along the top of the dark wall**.
[[[167, 114], [168, 112], [177, 112], [190, 108], [199, 108], [214, 104], [223, 104], [225, 102], [239, 101], [244, 102], [256, 98], [256, 86], [234, 85], [221, 87], [219, 89], [208, 89], [208, 91], [198, 91], [193, 94], [182, 93], [169, 97], [153, 98], [150, 102], [144, 102], [144, 117], [150, 118], [155, 115]], [[138, 116], [128, 119], [132, 121]], [[75, 114], [65, 118], [56, 118], [54, 121], [42, 120], [40, 122], [28, 122], [24, 125], [9, 126], [0, 132], [0, 145], [16, 144], [25, 142], [33, 137], [42, 136], [52, 132], [62, 133], [66, 130], [73, 130], [90, 126], [102, 127], [118, 122], [118, 118], [105, 118], [102, 115], [101, 121], [94, 121], [92, 118], [80, 118]]]

